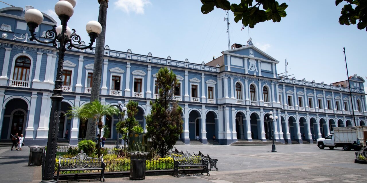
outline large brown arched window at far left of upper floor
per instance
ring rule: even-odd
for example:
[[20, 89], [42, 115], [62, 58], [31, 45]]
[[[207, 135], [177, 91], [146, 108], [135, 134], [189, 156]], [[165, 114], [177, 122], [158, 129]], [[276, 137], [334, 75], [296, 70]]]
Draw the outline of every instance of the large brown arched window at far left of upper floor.
[[30, 71], [30, 59], [25, 56], [18, 57], [15, 60], [14, 67], [14, 80], [28, 81], [29, 80], [29, 71]]

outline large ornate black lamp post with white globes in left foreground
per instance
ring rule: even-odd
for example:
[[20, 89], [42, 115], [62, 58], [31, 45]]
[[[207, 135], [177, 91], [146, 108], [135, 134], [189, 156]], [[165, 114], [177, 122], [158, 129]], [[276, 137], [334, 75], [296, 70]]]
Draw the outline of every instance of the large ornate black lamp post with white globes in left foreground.
[[34, 35], [35, 29], [43, 22], [43, 15], [39, 10], [30, 9], [27, 10], [24, 14], [24, 18], [29, 27], [30, 35], [32, 38], [30, 40], [37, 40], [38, 42], [44, 44], [50, 44], [54, 47], [57, 47], [57, 42], [59, 42], [59, 60], [57, 64], [57, 75], [55, 81], [55, 89], [54, 93], [51, 96], [52, 106], [51, 106], [51, 118], [50, 124], [48, 127], [48, 139], [47, 139], [47, 152], [46, 152], [46, 161], [45, 167], [42, 170], [42, 181], [47, 183], [56, 183], [54, 180], [54, 169], [55, 169], [55, 158], [56, 158], [56, 149], [57, 149], [57, 134], [59, 131], [59, 122], [60, 122], [60, 111], [61, 111], [61, 101], [63, 99], [62, 96], [62, 67], [64, 62], [64, 55], [66, 51], [66, 44], [69, 44], [68, 49], [72, 49], [72, 47], [77, 49], [92, 49], [92, 45], [102, 31], [101, 24], [97, 21], [90, 21], [87, 23], [86, 30], [90, 37], [90, 43], [88, 46], [79, 47], [72, 43], [77, 42], [81, 45], [80, 36], [75, 34], [75, 30], [71, 32], [70, 28], [67, 27], [67, 23], [69, 18], [74, 13], [74, 7], [76, 5], [75, 0], [60, 0], [55, 5], [55, 12], [59, 16], [61, 20], [61, 26], [54, 26], [51, 30], [46, 31], [45, 38], [51, 38], [52, 41], [41, 41], [37, 39]]

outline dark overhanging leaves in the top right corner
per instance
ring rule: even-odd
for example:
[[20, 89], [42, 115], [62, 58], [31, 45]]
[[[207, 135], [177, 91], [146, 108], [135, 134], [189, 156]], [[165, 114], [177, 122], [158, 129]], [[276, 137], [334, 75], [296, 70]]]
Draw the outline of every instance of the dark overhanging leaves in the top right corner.
[[[366, 0], [336, 0], [335, 5], [339, 5], [341, 2], [346, 1], [340, 12], [342, 15], [339, 17], [340, 25], [355, 25], [358, 21], [358, 29], [366, 29], [367, 31], [367, 1]], [[353, 8], [354, 7], [354, 8]]]

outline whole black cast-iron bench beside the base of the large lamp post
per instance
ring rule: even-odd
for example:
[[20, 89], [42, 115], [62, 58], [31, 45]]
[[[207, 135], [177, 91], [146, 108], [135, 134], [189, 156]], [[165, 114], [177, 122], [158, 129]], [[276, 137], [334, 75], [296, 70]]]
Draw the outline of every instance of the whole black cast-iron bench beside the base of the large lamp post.
[[101, 170], [99, 180], [105, 182], [106, 163], [103, 162], [103, 155], [100, 158], [91, 158], [83, 150], [75, 157], [63, 158], [59, 155], [59, 165], [57, 168], [57, 182], [59, 182], [59, 173], [64, 171], [88, 171]]

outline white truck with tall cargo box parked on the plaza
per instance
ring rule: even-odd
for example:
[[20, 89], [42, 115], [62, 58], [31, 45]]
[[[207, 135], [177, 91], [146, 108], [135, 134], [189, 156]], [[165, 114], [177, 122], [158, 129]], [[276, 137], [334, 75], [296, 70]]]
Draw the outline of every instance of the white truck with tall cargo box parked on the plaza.
[[[324, 149], [325, 147], [329, 147], [329, 149], [343, 147], [343, 150], [350, 150], [353, 148], [358, 151], [366, 146], [366, 139], [366, 126], [335, 127], [334, 130], [331, 131], [331, 135], [317, 139], [317, 146], [320, 149]], [[355, 143], [357, 141], [360, 142], [359, 145]]]

